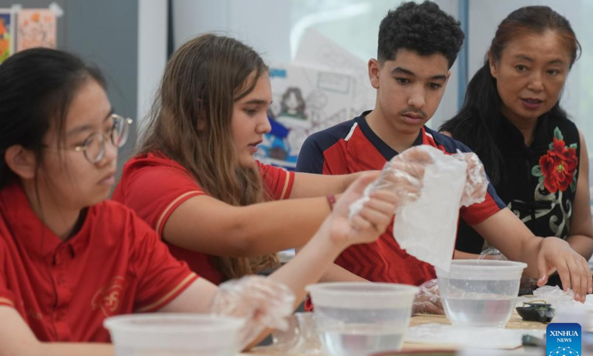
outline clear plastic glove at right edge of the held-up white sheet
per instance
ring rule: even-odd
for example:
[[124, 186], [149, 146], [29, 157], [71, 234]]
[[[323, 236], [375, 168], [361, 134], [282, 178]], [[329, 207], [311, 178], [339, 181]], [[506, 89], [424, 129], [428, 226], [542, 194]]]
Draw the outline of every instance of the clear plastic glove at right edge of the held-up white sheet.
[[460, 161], [467, 163], [467, 179], [466, 186], [461, 195], [460, 206], [470, 206], [472, 204], [481, 203], [486, 197], [488, 190], [488, 179], [484, 171], [484, 165], [478, 155], [474, 152], [461, 152], [453, 155]]

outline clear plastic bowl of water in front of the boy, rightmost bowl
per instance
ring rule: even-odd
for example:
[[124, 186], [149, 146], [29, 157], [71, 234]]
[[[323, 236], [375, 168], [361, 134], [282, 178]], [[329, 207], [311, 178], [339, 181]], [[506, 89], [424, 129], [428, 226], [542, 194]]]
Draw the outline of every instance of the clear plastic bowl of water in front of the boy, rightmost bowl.
[[452, 325], [504, 328], [515, 309], [526, 263], [454, 260], [436, 269], [441, 301]]

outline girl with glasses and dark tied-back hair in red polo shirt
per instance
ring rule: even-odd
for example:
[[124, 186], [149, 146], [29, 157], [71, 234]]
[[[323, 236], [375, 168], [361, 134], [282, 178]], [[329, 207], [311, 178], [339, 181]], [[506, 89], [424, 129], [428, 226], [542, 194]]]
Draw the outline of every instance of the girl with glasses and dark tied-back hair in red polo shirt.
[[222, 298], [129, 208], [106, 200], [129, 123], [113, 114], [100, 72], [73, 55], [30, 49], [0, 65], [0, 356], [113, 354], [106, 317], [205, 313], [216, 300], [261, 329], [276, 292], [302, 298], [343, 249], [377, 239], [396, 208], [393, 193], [377, 192], [349, 222], [350, 202], [373, 178], [361, 177], [294, 260]]

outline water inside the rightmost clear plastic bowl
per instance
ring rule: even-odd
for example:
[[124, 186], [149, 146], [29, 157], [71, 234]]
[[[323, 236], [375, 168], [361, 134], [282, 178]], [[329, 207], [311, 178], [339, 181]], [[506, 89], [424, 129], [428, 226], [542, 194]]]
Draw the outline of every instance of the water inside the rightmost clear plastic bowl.
[[516, 297], [500, 294], [448, 295], [443, 306], [453, 325], [503, 328], [511, 318]]

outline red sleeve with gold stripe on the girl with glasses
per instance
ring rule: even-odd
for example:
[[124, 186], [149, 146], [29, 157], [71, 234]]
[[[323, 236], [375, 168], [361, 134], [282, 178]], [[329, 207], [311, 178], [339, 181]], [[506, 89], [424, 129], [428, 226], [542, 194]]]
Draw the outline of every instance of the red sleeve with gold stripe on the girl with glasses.
[[135, 311], [161, 309], [186, 290], [198, 276], [185, 262], [176, 260], [146, 223], [135, 215], [130, 233], [133, 268], [138, 276]]

